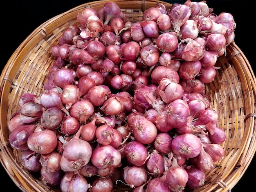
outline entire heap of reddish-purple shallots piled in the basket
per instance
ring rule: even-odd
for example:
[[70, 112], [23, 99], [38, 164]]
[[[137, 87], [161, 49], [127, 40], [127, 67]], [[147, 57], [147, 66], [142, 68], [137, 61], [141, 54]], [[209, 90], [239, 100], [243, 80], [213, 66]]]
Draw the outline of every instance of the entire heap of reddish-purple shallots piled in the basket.
[[188, 0], [157, 3], [140, 22], [115, 2], [78, 13], [52, 46], [44, 92], [24, 94], [11, 116], [22, 165], [62, 192], [204, 185], [226, 139], [205, 83], [236, 27], [230, 13], [212, 11]]

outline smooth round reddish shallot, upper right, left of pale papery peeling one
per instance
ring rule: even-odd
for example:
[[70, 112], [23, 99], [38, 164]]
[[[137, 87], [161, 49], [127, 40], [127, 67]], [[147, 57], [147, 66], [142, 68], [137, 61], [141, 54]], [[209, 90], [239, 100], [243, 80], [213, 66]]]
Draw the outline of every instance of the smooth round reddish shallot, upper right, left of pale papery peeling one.
[[156, 39], [157, 48], [163, 53], [171, 53], [178, 47], [178, 39], [173, 33], [162, 33]]

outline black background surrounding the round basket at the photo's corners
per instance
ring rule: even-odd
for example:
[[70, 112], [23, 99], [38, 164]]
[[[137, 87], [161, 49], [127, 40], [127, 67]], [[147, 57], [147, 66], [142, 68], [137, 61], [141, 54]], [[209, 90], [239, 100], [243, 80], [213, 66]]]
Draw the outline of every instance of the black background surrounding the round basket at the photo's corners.
[[[72, 9], [80, 4], [90, 2], [88, 0], [16, 0], [5, 1], [1, 11], [1, 39], [2, 54], [1, 71], [13, 52], [29, 34], [39, 25], [54, 16]], [[169, 3], [184, 3], [182, 0], [166, 0]], [[251, 1], [245, 0], [208, 0], [207, 4], [213, 8], [213, 13], [229, 12], [236, 22], [235, 42], [249, 60], [256, 72], [254, 64], [255, 50], [255, 9]], [[255, 171], [256, 157], [252, 160], [245, 174], [232, 189], [232, 192], [240, 190], [253, 191], [256, 187]], [[0, 184], [8, 190], [20, 191], [13, 183], [2, 165], [0, 165]]]

